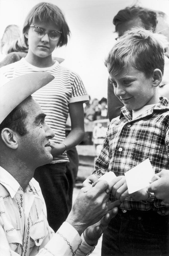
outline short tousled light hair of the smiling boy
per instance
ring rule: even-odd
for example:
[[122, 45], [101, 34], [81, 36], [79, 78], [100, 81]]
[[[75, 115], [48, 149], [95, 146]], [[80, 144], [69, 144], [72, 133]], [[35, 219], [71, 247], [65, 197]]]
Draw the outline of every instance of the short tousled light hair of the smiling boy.
[[117, 75], [129, 65], [144, 72], [149, 77], [156, 68], [164, 73], [164, 46], [166, 38], [142, 28], [133, 28], [125, 32], [113, 46], [105, 60], [108, 72]]

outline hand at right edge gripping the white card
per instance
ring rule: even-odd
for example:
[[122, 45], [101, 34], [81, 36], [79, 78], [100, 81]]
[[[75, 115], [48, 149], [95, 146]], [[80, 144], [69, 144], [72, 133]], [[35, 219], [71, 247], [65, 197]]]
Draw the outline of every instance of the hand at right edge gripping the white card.
[[[160, 178], [157, 179], [155, 176]], [[151, 180], [152, 183], [148, 186], [148, 191], [153, 192], [155, 197], [169, 204], [169, 170], [162, 170], [155, 174], [155, 176]]]

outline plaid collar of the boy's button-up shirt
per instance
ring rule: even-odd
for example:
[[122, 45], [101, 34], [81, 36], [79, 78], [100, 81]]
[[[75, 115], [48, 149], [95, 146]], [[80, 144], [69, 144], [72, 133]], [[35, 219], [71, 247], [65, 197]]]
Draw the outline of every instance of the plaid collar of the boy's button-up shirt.
[[[146, 110], [143, 112], [143, 114], [139, 115], [136, 119], [143, 118], [144, 116], [151, 115], [153, 112], [158, 111], [166, 111], [169, 110], [169, 101], [165, 97], [160, 97], [160, 102], [152, 106], [152, 108]], [[120, 109], [120, 117], [121, 119], [124, 116], [125, 119], [127, 119], [128, 122], [132, 121], [132, 110], [128, 110], [125, 108]]]

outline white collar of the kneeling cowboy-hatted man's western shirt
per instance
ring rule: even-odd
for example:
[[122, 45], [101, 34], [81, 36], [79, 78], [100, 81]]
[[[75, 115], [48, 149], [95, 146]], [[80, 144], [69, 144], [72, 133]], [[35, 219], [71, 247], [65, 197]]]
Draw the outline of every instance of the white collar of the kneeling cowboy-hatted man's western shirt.
[[[0, 166], [0, 184], [5, 187], [5, 189], [9, 192], [11, 198], [13, 198], [18, 189], [20, 188], [20, 184], [17, 182], [17, 180], [9, 173], [7, 170], [2, 168]], [[28, 194], [33, 194], [33, 195], [40, 195], [40, 188], [38, 183], [34, 178], [32, 178], [25, 189], [25, 192]]]

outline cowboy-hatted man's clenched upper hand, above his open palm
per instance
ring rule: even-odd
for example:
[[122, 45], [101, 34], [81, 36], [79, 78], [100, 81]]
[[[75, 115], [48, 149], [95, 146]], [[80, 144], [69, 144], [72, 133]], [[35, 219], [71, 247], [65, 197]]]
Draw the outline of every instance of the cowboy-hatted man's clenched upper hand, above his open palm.
[[108, 205], [109, 194], [105, 192], [107, 188], [108, 183], [101, 180], [94, 187], [80, 190], [66, 220], [80, 235], [87, 227], [98, 222], [113, 207]]

